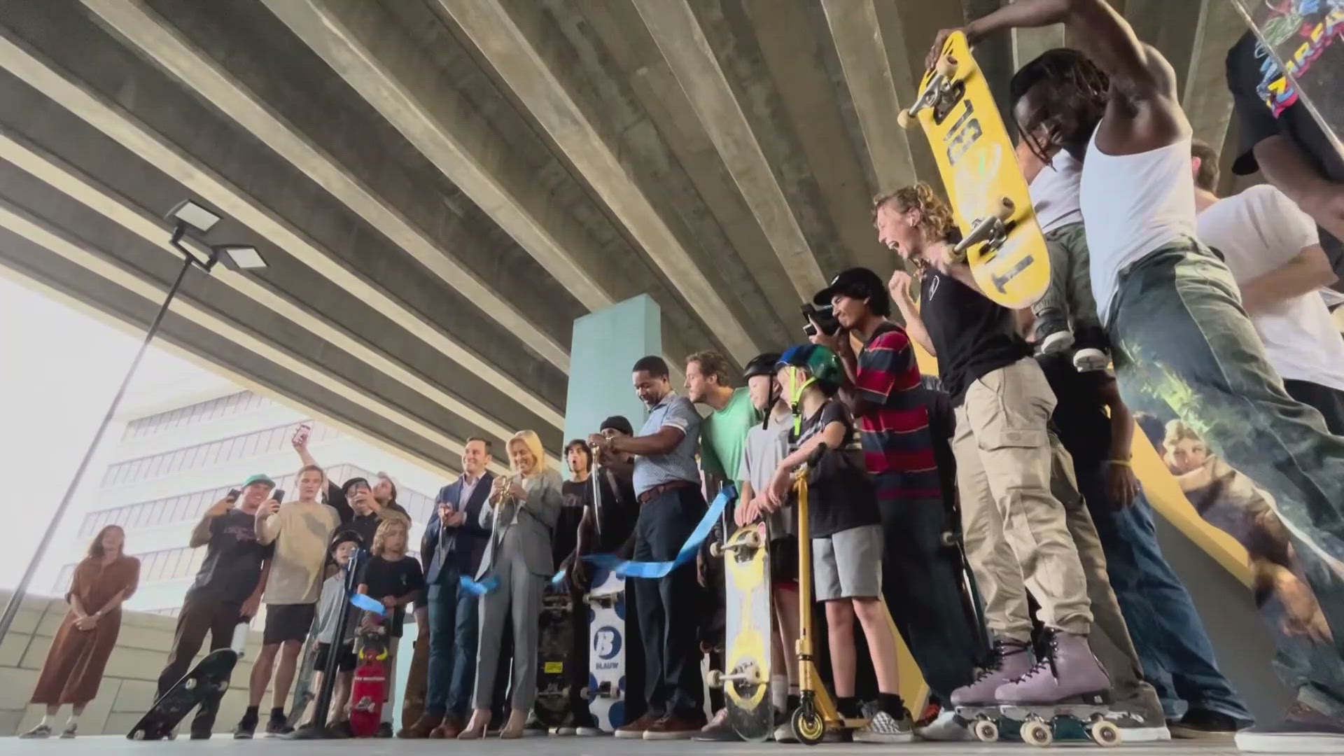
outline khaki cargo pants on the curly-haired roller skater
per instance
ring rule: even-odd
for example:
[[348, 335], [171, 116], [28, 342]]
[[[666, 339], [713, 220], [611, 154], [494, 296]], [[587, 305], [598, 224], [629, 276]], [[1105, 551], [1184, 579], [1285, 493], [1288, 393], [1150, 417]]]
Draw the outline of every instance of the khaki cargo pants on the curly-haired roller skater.
[[966, 389], [952, 443], [962, 535], [985, 624], [1024, 642], [1031, 639], [1027, 591], [1047, 627], [1086, 635], [1093, 619], [1064, 506], [1050, 487], [1054, 409], [1040, 366], [1023, 358]]

